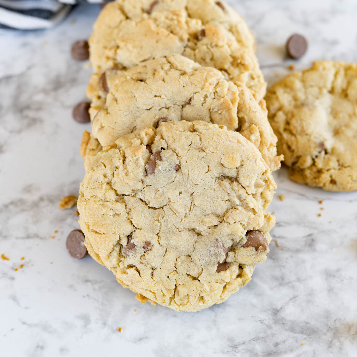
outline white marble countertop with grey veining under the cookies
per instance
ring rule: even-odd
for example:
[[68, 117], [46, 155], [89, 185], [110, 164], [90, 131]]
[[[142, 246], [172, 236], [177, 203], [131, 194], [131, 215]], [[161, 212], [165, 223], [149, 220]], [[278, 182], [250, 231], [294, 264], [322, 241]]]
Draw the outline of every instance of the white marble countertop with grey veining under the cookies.
[[[357, 61], [356, 1], [230, 3], [256, 34], [269, 84], [291, 64]], [[143, 305], [90, 256], [68, 255], [78, 217], [58, 202], [79, 190], [79, 144], [90, 130], [71, 118], [90, 69], [69, 49], [89, 37], [98, 12], [81, 3], [54, 29], [0, 33], [0, 254], [9, 258], [0, 260], [1, 356], [357, 356], [357, 192], [312, 189], [276, 172], [267, 261], [201, 312]], [[285, 57], [295, 32], [309, 41], [300, 61]]]

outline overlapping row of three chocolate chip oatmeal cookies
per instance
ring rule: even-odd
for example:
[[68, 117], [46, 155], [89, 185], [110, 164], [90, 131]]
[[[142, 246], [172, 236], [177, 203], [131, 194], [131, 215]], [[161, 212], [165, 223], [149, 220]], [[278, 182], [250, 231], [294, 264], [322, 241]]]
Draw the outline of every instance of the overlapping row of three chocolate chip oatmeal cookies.
[[85, 246], [145, 302], [197, 311], [266, 259], [280, 167], [255, 40], [213, 0], [119, 0], [89, 41]]

